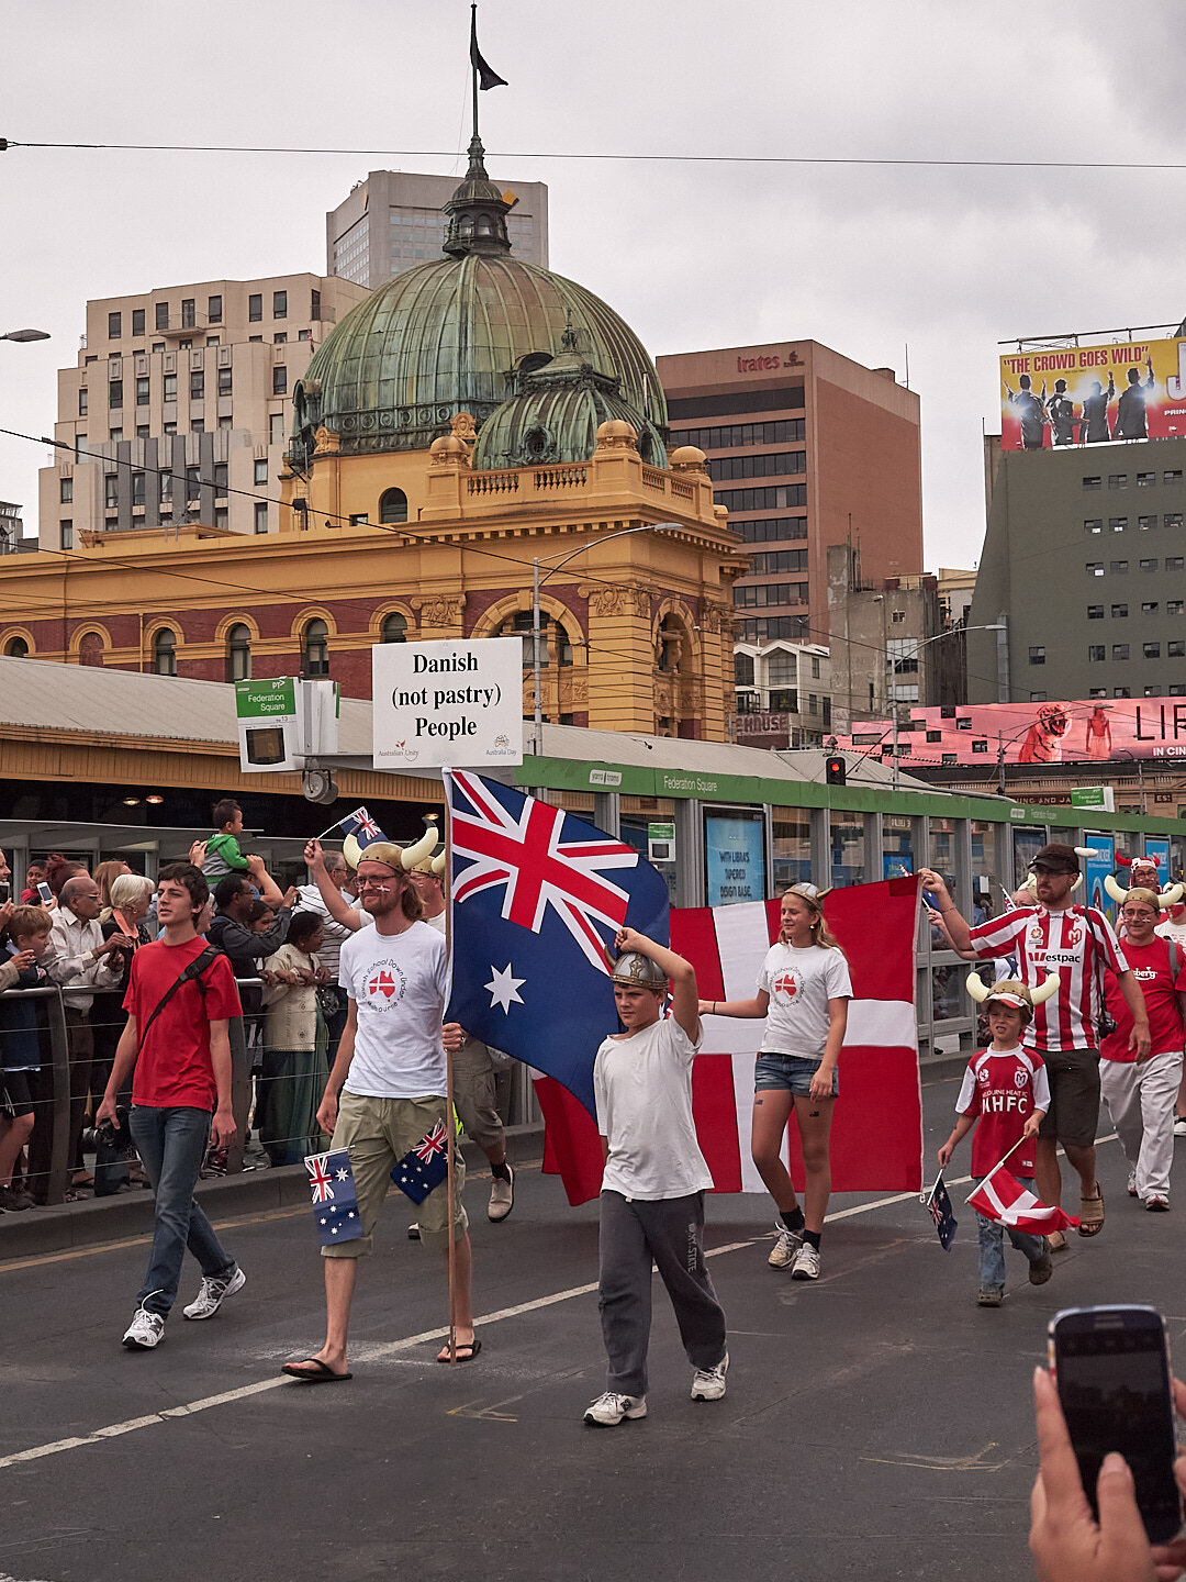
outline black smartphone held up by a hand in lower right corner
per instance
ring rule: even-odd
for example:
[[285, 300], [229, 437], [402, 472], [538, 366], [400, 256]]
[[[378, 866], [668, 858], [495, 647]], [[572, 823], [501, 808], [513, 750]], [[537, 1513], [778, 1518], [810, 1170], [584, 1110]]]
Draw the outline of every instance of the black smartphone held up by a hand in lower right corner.
[[1071, 1307], [1055, 1313], [1047, 1340], [1096, 1519], [1101, 1462], [1109, 1451], [1120, 1451], [1132, 1468], [1150, 1542], [1169, 1542], [1181, 1527], [1181, 1497], [1173, 1478], [1173, 1375], [1161, 1313], [1151, 1307]]

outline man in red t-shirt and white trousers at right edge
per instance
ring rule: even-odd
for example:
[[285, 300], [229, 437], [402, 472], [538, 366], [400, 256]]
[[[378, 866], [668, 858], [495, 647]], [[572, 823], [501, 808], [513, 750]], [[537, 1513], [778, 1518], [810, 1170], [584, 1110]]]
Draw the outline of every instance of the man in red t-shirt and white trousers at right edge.
[[1104, 995], [1116, 1030], [1099, 1046], [1099, 1081], [1129, 1161], [1129, 1196], [1164, 1213], [1170, 1205], [1173, 1101], [1186, 1043], [1186, 952], [1154, 933], [1158, 916], [1154, 891], [1129, 891], [1121, 910], [1124, 956], [1145, 995], [1150, 1052], [1140, 1057], [1127, 1047], [1132, 1016], [1115, 976], [1105, 971]]

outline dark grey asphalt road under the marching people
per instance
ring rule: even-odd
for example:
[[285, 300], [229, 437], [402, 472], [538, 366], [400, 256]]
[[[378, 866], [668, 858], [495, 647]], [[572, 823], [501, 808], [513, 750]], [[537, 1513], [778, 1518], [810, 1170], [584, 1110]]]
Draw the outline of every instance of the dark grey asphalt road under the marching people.
[[[927, 1090], [928, 1145], [955, 1093]], [[1153, 1302], [1186, 1356], [1178, 1213], [1126, 1199], [1116, 1142], [1101, 1175], [1104, 1234], [1072, 1237], [1041, 1289], [1007, 1251], [996, 1311], [974, 1305], [968, 1209], [944, 1255], [916, 1198], [833, 1199], [824, 1277], [800, 1285], [767, 1269], [764, 1199], [710, 1199], [727, 1397], [688, 1398], [658, 1288], [650, 1416], [601, 1430], [580, 1421], [604, 1387], [596, 1204], [569, 1209], [536, 1169], [501, 1226], [481, 1212], [485, 1182], [466, 1191], [484, 1349], [457, 1368], [433, 1362], [443, 1270], [406, 1242], [397, 1194], [361, 1275], [346, 1384], [277, 1373], [321, 1338], [308, 1210], [220, 1228], [245, 1291], [210, 1323], [176, 1310], [155, 1353], [119, 1343], [142, 1242], [3, 1264], [0, 1582], [1028, 1577], [1029, 1373], [1048, 1316]], [[182, 1302], [196, 1281], [187, 1267]]]

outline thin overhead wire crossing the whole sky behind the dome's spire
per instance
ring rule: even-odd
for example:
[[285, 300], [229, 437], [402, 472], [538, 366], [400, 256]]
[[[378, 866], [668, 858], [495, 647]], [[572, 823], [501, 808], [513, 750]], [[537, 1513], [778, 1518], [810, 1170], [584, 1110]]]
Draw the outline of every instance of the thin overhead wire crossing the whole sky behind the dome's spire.
[[[0, 138], [0, 153], [11, 149], [63, 149], [98, 153], [294, 153], [342, 158], [455, 160], [455, 149], [299, 149], [232, 142], [27, 142]], [[602, 160], [647, 165], [854, 165], [922, 169], [988, 171], [1186, 171], [1181, 160], [933, 160], [840, 153], [607, 153], [555, 149], [500, 150], [504, 160]]]

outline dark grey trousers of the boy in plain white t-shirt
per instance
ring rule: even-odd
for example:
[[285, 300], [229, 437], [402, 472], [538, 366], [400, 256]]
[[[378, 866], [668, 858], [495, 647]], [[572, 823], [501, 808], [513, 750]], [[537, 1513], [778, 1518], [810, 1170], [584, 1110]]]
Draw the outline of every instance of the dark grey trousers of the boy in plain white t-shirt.
[[724, 1311], [704, 1264], [704, 1193], [642, 1202], [602, 1191], [598, 1308], [606, 1387], [621, 1395], [647, 1394], [652, 1259], [691, 1365], [715, 1368], [724, 1356]]

